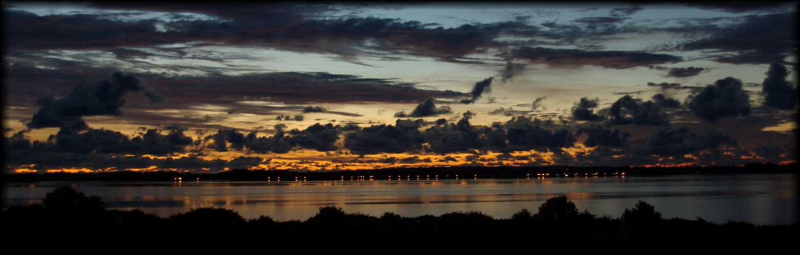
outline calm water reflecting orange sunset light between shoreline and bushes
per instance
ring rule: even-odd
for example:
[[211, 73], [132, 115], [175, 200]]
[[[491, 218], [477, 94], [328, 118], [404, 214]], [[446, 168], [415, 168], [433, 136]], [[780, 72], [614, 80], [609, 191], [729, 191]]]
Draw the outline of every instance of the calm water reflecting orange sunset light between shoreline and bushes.
[[402, 179], [289, 182], [36, 182], [4, 185], [5, 206], [41, 203], [47, 192], [72, 186], [97, 195], [106, 208], [139, 209], [162, 217], [202, 207], [235, 210], [246, 219], [269, 215], [277, 221], [306, 220], [320, 206], [347, 213], [414, 217], [481, 211], [510, 218], [532, 213], [546, 199], [564, 194], [598, 216], [618, 218], [638, 200], [663, 218], [701, 217], [755, 224], [798, 220], [797, 175], [670, 175], [531, 179]]

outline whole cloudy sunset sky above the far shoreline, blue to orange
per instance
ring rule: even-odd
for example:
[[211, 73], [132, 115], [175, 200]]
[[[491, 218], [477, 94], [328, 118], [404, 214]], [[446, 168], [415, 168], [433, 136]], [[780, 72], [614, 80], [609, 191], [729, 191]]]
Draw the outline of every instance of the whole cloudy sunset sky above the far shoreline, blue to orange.
[[2, 2], [5, 172], [796, 162], [798, 2]]

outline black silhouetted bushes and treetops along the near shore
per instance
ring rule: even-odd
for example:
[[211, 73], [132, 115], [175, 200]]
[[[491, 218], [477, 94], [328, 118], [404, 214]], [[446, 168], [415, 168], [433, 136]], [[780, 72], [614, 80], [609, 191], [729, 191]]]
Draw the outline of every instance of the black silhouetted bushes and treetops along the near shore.
[[[275, 222], [269, 216], [245, 219], [233, 210], [202, 208], [168, 218], [141, 210], [106, 210], [100, 198], [86, 197], [70, 187], [47, 194], [42, 204], [2, 211], [6, 247], [54, 249], [117, 249], [216, 247], [383, 247], [423, 248], [429, 245], [469, 247], [531, 246], [531, 248], [644, 248], [654, 251], [681, 247], [719, 249], [794, 248], [797, 222], [756, 226], [746, 222], [717, 224], [701, 218], [664, 219], [653, 206], [638, 202], [620, 218], [580, 212], [566, 196], [548, 199], [535, 214], [522, 209], [510, 219], [481, 212], [453, 212], [441, 216], [379, 217], [347, 214], [325, 206], [306, 221]], [[554, 246], [560, 245], [560, 246]], [[394, 247], [394, 248], [393, 248]], [[494, 249], [494, 248], [493, 248]], [[566, 250], [565, 250], [566, 251]], [[634, 251], [634, 250], [630, 250]], [[642, 250], [643, 251], [643, 250]]]

